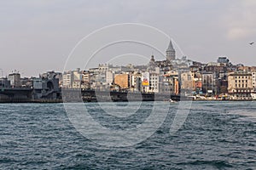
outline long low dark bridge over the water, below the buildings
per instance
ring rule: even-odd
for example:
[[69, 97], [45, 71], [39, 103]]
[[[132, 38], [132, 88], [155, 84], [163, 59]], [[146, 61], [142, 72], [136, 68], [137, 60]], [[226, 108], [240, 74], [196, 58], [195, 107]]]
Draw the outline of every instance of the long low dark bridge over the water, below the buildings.
[[[5, 88], [0, 91], [0, 103], [61, 103], [61, 102], [119, 102], [119, 101], [166, 101], [180, 100], [175, 94], [143, 94], [115, 91], [65, 89], [57, 99], [33, 99], [32, 88]], [[62, 99], [62, 94], [64, 94]], [[189, 99], [189, 98], [183, 98]]]

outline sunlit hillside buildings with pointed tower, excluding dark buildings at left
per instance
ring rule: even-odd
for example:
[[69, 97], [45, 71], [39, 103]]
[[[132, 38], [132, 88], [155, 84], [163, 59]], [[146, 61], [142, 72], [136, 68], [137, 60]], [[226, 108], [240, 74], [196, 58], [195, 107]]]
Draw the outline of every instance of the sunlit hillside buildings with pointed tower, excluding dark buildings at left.
[[[250, 94], [254, 93], [256, 88], [256, 71], [253, 68], [241, 64], [232, 65], [226, 56], [220, 56], [217, 62], [207, 64], [192, 61], [186, 56], [178, 59], [170, 41], [166, 48], [165, 60], [157, 61], [152, 55], [148, 65], [102, 64], [96, 68], [90, 68], [89, 71], [67, 71], [63, 74], [62, 85], [63, 88], [102, 91], [111, 89], [206, 96], [222, 94], [230, 95], [230, 99], [250, 99]], [[247, 79], [242, 79], [242, 76], [234, 78], [232, 75], [237, 75], [237, 71], [244, 71], [243, 74], [251, 76], [247, 76]], [[145, 73], [148, 73], [147, 85], [143, 85]], [[241, 84], [237, 83], [236, 87], [236, 82], [239, 81]]]

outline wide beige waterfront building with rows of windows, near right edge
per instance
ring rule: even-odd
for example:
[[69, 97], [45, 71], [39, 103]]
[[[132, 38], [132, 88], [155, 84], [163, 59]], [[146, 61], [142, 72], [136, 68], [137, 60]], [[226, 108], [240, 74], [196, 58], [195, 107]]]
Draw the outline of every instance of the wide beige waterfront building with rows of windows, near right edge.
[[231, 72], [228, 76], [228, 83], [230, 99], [252, 99], [252, 73], [243, 71]]

